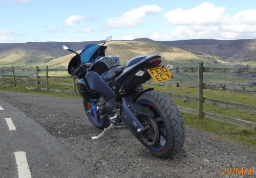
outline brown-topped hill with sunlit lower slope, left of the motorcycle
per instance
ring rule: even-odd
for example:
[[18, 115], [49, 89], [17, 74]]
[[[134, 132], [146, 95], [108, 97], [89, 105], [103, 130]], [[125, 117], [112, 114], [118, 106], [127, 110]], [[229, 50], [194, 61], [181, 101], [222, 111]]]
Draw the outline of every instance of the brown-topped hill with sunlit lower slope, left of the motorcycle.
[[27, 42], [27, 43], [0, 43], [1, 66], [30, 66], [36, 63], [45, 63], [54, 58], [69, 55], [60, 45], [67, 45], [74, 50], [80, 50], [87, 44], [101, 43], [102, 41], [86, 42]]

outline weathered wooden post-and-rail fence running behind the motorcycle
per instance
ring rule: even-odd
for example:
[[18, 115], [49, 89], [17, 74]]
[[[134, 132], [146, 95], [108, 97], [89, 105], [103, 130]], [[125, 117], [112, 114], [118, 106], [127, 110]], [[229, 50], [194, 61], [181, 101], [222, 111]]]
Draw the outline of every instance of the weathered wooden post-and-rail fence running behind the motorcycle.
[[[13, 75], [4, 75], [3, 69], [2, 71], [2, 85], [5, 85], [6, 82], [12, 82], [12, 86], [14, 87], [21, 87], [21, 88], [28, 88], [23, 86], [17, 86], [16, 82], [20, 83], [34, 83], [35, 87], [30, 87], [28, 89], [40, 89], [40, 90], [47, 90], [47, 91], [55, 91], [55, 92], [66, 92], [66, 93], [76, 93], [76, 82], [75, 78], [73, 77], [73, 84], [67, 84], [67, 83], [51, 83], [48, 82], [48, 79], [71, 79], [70, 77], [50, 77], [48, 75], [49, 71], [67, 71], [67, 69], [48, 69], [48, 66], [46, 69], [22, 69], [22, 70], [15, 70], [15, 71], [35, 71], [35, 79], [36, 81], [21, 81], [21, 80], [15, 80], [15, 77], [18, 78], [31, 78], [29, 76], [15, 76], [14, 68], [12, 67], [12, 70], [5, 70], [7, 72], [13, 72]], [[46, 76], [38, 76], [39, 71], [45, 71]], [[190, 108], [184, 108], [179, 107], [179, 110], [184, 113], [197, 115], [199, 119], [202, 119], [203, 117], [222, 121], [226, 123], [231, 123], [239, 126], [245, 126], [250, 129], [256, 130], [256, 123], [250, 122], [242, 119], [217, 115], [214, 113], [209, 112], [203, 112], [203, 103], [208, 105], [215, 105], [220, 107], [227, 107], [227, 108], [234, 108], [239, 109], [243, 111], [249, 111], [249, 112], [255, 112], [256, 113], [256, 106], [255, 105], [246, 105], [246, 104], [239, 104], [239, 103], [233, 103], [229, 101], [223, 101], [223, 100], [217, 100], [217, 99], [210, 99], [210, 98], [204, 98], [203, 97], [203, 89], [212, 89], [212, 90], [222, 90], [222, 91], [233, 91], [233, 92], [242, 92], [242, 93], [252, 93], [256, 94], [256, 87], [247, 87], [247, 86], [237, 86], [237, 85], [226, 85], [226, 84], [206, 84], [203, 83], [203, 73], [204, 72], [225, 72], [225, 73], [250, 73], [255, 74], [256, 68], [210, 68], [210, 67], [203, 67], [203, 63], [199, 62], [198, 67], [183, 67], [183, 68], [173, 68], [171, 70], [172, 72], [197, 72], [198, 73], [198, 82], [191, 83], [191, 82], [162, 82], [162, 83], [154, 83], [153, 81], [147, 81], [147, 84], [153, 84], [153, 85], [162, 85], [162, 86], [170, 86], [170, 87], [188, 87], [188, 88], [198, 88], [198, 97], [196, 96], [189, 96], [189, 95], [182, 95], [182, 94], [175, 94], [175, 93], [165, 93], [171, 98], [177, 98], [187, 101], [196, 101], [198, 103], [198, 109], [190, 109]], [[5, 77], [12, 77], [13, 80], [4, 80]], [[46, 82], [39, 82], [39, 78], [45, 78]], [[39, 88], [38, 84], [45, 84], [46, 88]], [[74, 90], [55, 90], [55, 89], [49, 89], [49, 84], [52, 85], [65, 85], [65, 86], [73, 86]], [[10, 84], [9, 84], [10, 85]], [[256, 101], [255, 101], [256, 103]]]

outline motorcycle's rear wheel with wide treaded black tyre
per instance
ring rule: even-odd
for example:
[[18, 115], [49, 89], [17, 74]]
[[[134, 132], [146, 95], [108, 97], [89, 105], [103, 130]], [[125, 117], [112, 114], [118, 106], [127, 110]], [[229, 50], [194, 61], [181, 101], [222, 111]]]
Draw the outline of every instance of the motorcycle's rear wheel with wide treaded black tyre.
[[148, 128], [146, 132], [139, 134], [139, 140], [157, 157], [175, 156], [185, 139], [185, 127], [177, 106], [168, 96], [155, 90], [140, 95], [136, 103], [155, 114], [153, 118], [138, 116]]

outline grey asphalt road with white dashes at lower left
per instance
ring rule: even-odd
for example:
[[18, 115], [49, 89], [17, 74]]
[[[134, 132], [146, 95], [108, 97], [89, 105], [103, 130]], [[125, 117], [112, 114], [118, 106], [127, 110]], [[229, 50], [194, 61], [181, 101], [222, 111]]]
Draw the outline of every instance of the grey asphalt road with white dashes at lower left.
[[[29, 177], [29, 173], [32, 177], [91, 177], [83, 161], [34, 119], [2, 99], [0, 106], [1, 177]], [[5, 118], [11, 118], [16, 130], [9, 129]], [[18, 151], [26, 152], [29, 172], [18, 170], [14, 155]]]

